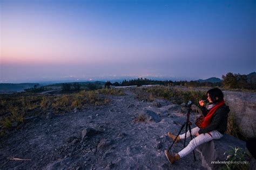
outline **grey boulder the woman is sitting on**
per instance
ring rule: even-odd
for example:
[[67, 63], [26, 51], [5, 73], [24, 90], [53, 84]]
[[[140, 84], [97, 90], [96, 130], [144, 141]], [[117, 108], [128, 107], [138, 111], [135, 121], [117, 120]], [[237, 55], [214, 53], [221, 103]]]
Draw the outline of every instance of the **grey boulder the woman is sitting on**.
[[245, 150], [246, 143], [238, 138], [224, 134], [219, 140], [211, 140], [207, 143], [201, 144], [196, 148], [201, 154], [202, 165], [207, 169], [219, 169], [225, 164], [211, 164], [212, 161], [225, 161], [227, 155], [224, 153], [231, 149], [231, 147], [241, 147]]

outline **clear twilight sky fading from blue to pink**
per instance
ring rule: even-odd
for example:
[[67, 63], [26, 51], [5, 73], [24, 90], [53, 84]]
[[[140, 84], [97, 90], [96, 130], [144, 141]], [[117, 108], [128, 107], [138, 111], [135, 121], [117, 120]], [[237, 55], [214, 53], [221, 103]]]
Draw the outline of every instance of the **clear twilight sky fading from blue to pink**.
[[255, 11], [256, 1], [0, 0], [0, 83], [249, 74]]

